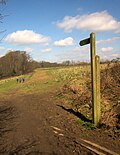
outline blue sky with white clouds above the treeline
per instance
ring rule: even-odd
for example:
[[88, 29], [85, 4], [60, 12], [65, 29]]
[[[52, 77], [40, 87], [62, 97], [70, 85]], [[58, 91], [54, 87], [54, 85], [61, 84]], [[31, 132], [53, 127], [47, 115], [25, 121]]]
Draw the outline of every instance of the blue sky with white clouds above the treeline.
[[120, 57], [120, 0], [8, 0], [0, 29], [0, 56], [25, 50], [37, 61], [89, 61], [89, 45], [79, 41], [96, 34], [101, 59]]

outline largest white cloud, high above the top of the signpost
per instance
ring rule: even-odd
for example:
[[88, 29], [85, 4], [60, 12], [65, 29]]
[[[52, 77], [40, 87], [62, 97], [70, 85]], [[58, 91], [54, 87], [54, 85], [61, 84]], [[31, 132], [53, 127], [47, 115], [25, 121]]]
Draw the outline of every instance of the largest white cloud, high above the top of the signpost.
[[120, 22], [107, 11], [75, 17], [65, 16], [63, 21], [58, 21], [56, 24], [59, 28], [64, 29], [66, 32], [71, 32], [73, 29], [89, 30], [94, 32], [117, 32], [120, 29]]

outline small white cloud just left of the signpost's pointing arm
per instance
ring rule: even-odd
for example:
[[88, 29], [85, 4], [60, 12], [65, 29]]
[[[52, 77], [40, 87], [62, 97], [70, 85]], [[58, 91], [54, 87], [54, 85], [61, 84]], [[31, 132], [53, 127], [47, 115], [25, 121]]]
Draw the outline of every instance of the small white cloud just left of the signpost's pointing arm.
[[74, 40], [71, 37], [65, 38], [63, 40], [55, 41], [54, 45], [58, 47], [71, 46], [74, 44]]

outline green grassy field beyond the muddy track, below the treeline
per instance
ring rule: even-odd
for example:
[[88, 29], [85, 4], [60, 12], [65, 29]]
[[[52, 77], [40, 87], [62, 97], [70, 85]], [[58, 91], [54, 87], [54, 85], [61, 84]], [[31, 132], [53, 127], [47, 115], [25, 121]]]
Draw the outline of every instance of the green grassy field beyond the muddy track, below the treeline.
[[[87, 74], [89, 67], [60, 67], [42, 69], [48, 77], [52, 77], [43, 82], [32, 78], [33, 75], [40, 72], [41, 69], [35, 70], [31, 74], [22, 75], [25, 78], [25, 83], [17, 83], [17, 77], [8, 78], [0, 81], [0, 92], [10, 93], [11, 91], [22, 93], [40, 93], [48, 92], [52, 88], [62, 86], [64, 82], [82, 78], [83, 74]], [[39, 76], [39, 74], [37, 74]], [[40, 75], [41, 76], [41, 75]], [[20, 77], [20, 76], [19, 76]], [[35, 77], [36, 78], [36, 77]], [[30, 82], [32, 79], [32, 82]], [[28, 82], [29, 81], [29, 82]]]

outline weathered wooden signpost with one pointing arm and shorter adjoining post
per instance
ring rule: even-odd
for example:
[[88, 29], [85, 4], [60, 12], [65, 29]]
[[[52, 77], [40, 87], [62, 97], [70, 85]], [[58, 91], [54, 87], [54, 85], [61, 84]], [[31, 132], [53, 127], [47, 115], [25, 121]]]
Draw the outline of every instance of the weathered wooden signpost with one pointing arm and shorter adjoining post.
[[95, 33], [90, 38], [80, 41], [80, 46], [90, 44], [91, 82], [92, 82], [92, 117], [95, 126], [100, 123], [100, 57], [96, 55]]

